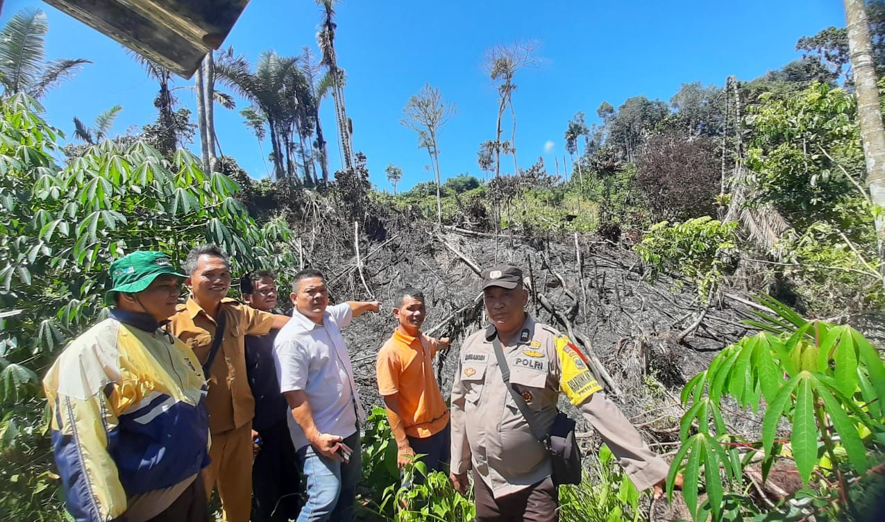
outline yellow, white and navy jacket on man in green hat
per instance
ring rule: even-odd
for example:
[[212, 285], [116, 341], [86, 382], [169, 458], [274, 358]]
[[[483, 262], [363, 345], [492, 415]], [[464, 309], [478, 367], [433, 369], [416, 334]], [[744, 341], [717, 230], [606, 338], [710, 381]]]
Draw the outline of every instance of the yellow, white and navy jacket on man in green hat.
[[112, 311], [62, 352], [43, 388], [66, 507], [78, 522], [119, 518], [127, 498], [209, 464], [203, 371], [146, 314]]

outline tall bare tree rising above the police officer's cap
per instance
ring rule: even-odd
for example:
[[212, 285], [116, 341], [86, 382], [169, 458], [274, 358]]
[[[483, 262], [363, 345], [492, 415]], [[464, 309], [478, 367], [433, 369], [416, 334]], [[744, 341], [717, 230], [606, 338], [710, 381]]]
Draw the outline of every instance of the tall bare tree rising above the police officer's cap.
[[[513, 78], [520, 69], [525, 67], [536, 67], [539, 64], [539, 58], [533, 53], [537, 49], [537, 43], [513, 42], [508, 45], [496, 44], [486, 51], [484, 58], [484, 69], [489, 74], [492, 81], [496, 81], [496, 90], [498, 93], [498, 112], [495, 130], [495, 142], [493, 142], [493, 152], [495, 154], [495, 177], [501, 173], [501, 154], [510, 153], [513, 155], [513, 174], [519, 173], [519, 167], [516, 161], [516, 111], [513, 110], [513, 91], [516, 90], [516, 84]], [[504, 111], [510, 109], [510, 115], [513, 123], [510, 140], [501, 141], [502, 128], [501, 123], [504, 119]]]

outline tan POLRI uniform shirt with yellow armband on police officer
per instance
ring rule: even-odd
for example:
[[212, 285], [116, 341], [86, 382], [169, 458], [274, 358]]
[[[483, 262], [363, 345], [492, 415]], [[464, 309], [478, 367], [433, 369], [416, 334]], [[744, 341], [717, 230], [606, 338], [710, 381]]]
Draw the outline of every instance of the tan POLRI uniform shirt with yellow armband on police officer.
[[[550, 475], [547, 449], [513, 402], [497, 365], [494, 326], [476, 332], [461, 348], [451, 389], [451, 471], [473, 468], [496, 498]], [[560, 393], [579, 408], [643, 490], [666, 477], [669, 466], [653, 453], [624, 414], [601, 391], [581, 350], [552, 327], [526, 322], [512, 344], [502, 346], [511, 385], [549, 431]]]

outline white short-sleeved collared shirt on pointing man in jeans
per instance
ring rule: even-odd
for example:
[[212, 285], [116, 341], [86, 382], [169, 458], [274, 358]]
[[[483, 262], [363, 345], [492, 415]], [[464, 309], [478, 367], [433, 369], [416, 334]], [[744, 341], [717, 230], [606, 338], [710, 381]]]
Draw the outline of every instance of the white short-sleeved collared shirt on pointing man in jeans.
[[[341, 437], [354, 434], [357, 419], [365, 419], [340, 330], [352, 318], [348, 303], [328, 307], [321, 325], [296, 310], [273, 342], [280, 391], [304, 390], [319, 432]], [[308, 444], [291, 415], [289, 431], [296, 449]]]

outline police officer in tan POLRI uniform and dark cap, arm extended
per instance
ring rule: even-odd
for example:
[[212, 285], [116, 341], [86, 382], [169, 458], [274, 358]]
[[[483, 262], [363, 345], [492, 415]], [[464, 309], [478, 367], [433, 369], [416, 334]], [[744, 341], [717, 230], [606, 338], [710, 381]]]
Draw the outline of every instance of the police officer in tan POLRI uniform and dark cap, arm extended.
[[552, 426], [560, 393], [573, 403], [619, 458], [635, 487], [666, 480], [668, 465], [653, 453], [589, 371], [581, 350], [525, 311], [522, 271], [498, 266], [482, 273], [492, 325], [466, 339], [451, 390], [451, 476], [466, 495], [473, 470], [479, 521], [558, 520], [558, 492], [550, 458], [519, 412], [498, 369], [497, 336], [510, 367], [511, 385], [541, 426]]

